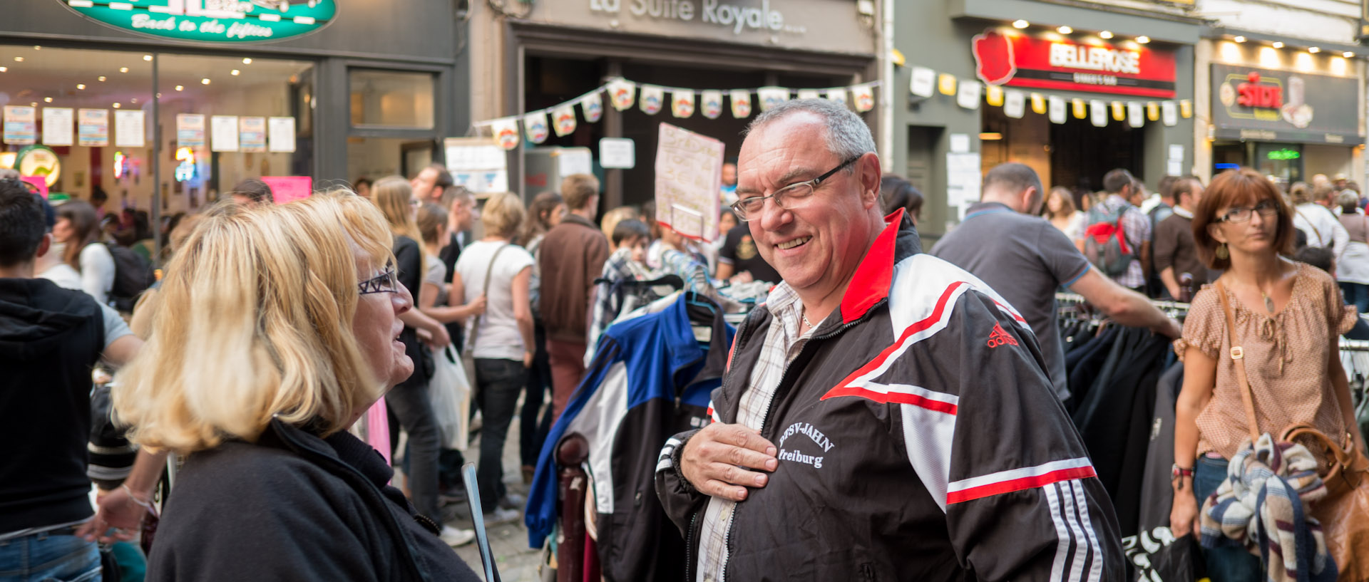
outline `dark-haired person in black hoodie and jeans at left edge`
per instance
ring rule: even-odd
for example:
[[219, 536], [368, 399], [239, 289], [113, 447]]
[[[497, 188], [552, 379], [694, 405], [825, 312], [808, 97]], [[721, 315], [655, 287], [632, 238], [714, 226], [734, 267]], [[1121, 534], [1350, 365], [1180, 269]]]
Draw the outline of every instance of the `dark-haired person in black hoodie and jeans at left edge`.
[[[52, 219], [16, 179], [0, 180], [0, 572], [5, 579], [99, 575], [86, 439], [90, 369], [142, 346], [114, 310], [33, 277]], [[96, 574], [92, 574], [96, 572]]]

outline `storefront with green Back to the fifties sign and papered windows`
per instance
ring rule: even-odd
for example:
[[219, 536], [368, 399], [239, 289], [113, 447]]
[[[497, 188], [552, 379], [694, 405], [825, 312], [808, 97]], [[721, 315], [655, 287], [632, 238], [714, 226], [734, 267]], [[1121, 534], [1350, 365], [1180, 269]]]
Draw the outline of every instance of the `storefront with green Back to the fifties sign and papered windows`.
[[107, 193], [107, 212], [155, 220], [244, 178], [409, 175], [470, 122], [453, 3], [12, 4], [0, 167], [74, 198]]

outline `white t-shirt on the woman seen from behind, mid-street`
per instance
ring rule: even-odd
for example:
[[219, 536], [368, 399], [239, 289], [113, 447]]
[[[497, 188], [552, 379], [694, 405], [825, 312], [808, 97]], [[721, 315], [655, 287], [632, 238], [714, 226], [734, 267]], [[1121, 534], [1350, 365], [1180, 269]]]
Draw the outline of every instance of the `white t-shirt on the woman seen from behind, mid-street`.
[[[461, 277], [465, 292], [461, 303], [470, 303], [481, 296], [485, 288], [485, 272], [490, 268], [494, 253], [505, 245], [481, 240], [461, 249], [461, 258], [456, 261], [456, 275]], [[513, 277], [523, 269], [531, 268], [533, 255], [520, 246], [509, 245], [498, 254], [494, 271], [490, 272], [485, 314], [479, 317], [481, 329], [475, 337], [475, 351], [471, 352], [474, 357], [523, 361], [523, 335], [519, 333], [517, 320], [513, 318]], [[470, 322], [465, 336], [471, 336]]]

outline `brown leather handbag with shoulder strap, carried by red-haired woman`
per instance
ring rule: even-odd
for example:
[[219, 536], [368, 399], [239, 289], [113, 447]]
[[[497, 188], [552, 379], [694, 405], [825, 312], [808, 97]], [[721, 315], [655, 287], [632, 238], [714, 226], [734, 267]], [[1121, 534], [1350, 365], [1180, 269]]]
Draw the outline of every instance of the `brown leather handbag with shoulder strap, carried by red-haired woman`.
[[[1246, 376], [1244, 352], [1236, 344], [1236, 321], [1221, 280], [1216, 284], [1221, 310], [1227, 316], [1227, 335], [1231, 339], [1231, 359], [1235, 361], [1236, 383], [1243, 388], [1240, 400], [1246, 407], [1251, 441], [1259, 439], [1254, 392]], [[1327, 485], [1327, 496], [1312, 507], [1312, 516], [1321, 523], [1327, 552], [1336, 560], [1338, 581], [1369, 581], [1369, 459], [1355, 447], [1350, 433], [1338, 444], [1333, 439], [1309, 425], [1290, 425], [1279, 433], [1279, 440], [1307, 447], [1324, 459], [1317, 474]]]

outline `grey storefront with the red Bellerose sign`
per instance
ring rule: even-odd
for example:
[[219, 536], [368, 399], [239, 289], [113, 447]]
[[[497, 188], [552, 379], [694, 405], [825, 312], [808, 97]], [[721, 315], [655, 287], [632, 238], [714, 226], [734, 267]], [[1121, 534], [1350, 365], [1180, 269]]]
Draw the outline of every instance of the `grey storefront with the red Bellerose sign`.
[[[902, 18], [916, 11], [917, 19]], [[939, 12], [939, 14], [938, 14]], [[988, 168], [1032, 167], [1046, 187], [1082, 194], [1127, 168], [1147, 184], [1192, 168], [1192, 44], [1201, 23], [1029, 0], [902, 3], [890, 85], [893, 171], [923, 190], [919, 230], [936, 238], [979, 198]]]

